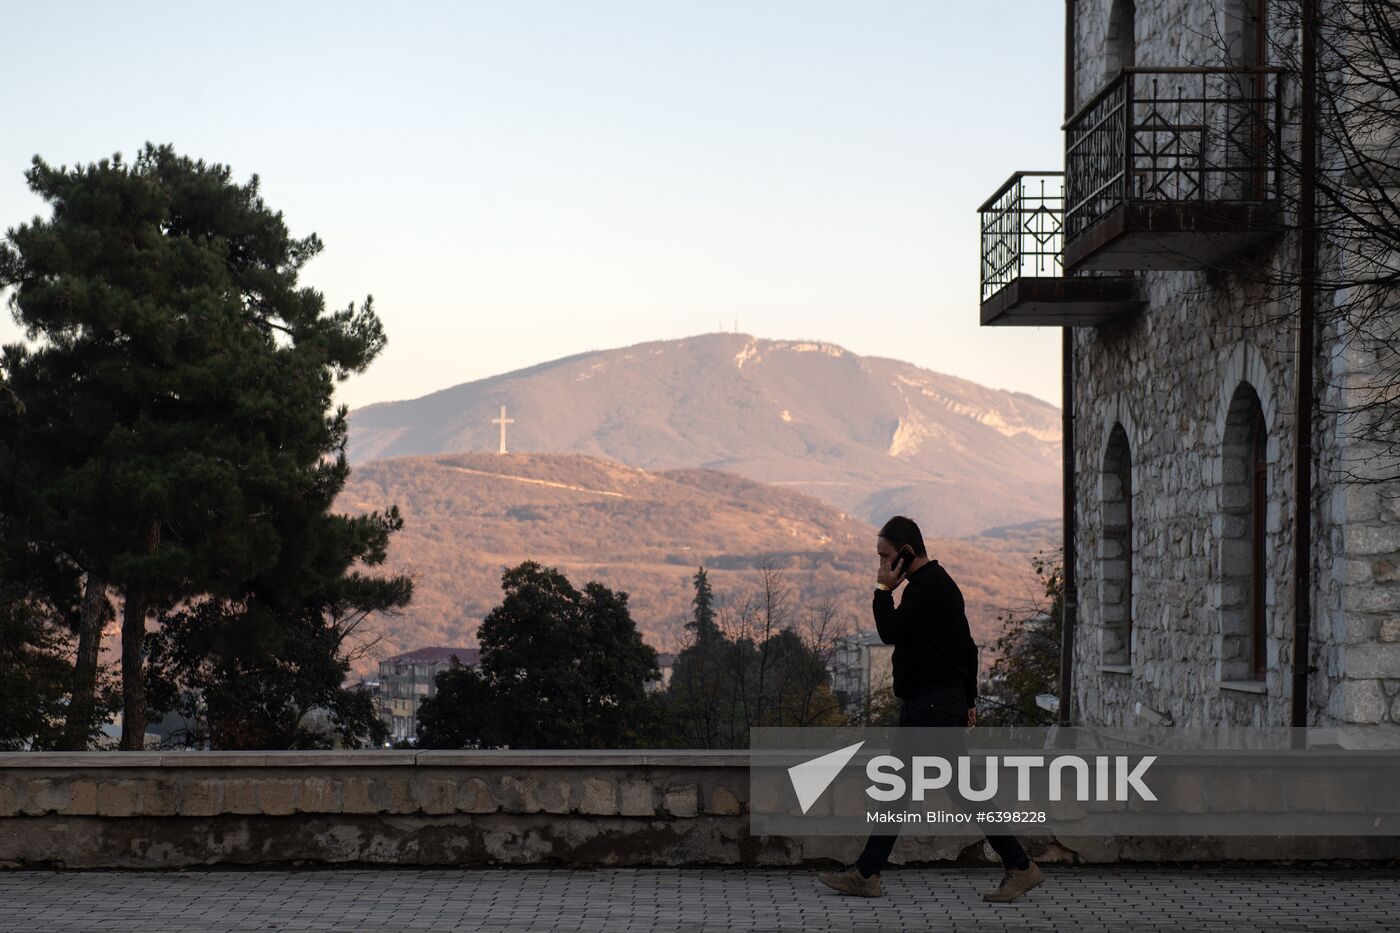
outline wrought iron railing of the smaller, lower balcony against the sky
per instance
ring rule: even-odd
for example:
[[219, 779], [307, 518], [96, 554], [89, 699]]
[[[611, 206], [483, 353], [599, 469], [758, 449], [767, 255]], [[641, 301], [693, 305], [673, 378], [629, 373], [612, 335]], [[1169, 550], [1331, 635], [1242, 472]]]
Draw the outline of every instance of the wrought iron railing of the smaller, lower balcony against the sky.
[[983, 301], [1014, 279], [1063, 275], [1064, 172], [1016, 172], [977, 213]]

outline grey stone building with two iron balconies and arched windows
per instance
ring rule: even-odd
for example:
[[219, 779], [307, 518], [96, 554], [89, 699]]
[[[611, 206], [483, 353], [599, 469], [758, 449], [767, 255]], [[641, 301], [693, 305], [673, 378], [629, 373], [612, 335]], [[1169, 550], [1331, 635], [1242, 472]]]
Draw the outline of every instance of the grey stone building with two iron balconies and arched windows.
[[1400, 483], [1345, 478], [1396, 464], [1336, 413], [1338, 387], [1394, 373], [1336, 318], [1298, 352], [1288, 22], [1261, 0], [1072, 0], [1064, 167], [980, 210], [981, 322], [1063, 328], [1070, 363], [1065, 721], [1400, 724]]

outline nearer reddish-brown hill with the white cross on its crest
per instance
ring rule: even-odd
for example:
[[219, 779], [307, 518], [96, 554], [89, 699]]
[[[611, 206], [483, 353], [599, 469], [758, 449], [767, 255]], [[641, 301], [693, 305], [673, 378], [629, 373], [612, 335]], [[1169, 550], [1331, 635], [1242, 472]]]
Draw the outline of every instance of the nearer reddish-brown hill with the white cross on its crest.
[[[690, 615], [692, 577], [710, 572], [721, 605], [756, 591], [771, 560], [794, 608], [830, 597], [843, 618], [869, 629], [875, 527], [792, 489], [711, 469], [643, 471], [581, 455], [448, 454], [356, 466], [337, 511], [398, 503], [403, 531], [388, 567], [416, 577], [402, 616], [372, 618], [375, 657], [423, 644], [473, 644], [501, 598], [507, 566], [539, 560], [582, 587], [598, 580], [630, 595], [633, 619], [661, 650], [673, 649]], [[979, 642], [997, 612], [1030, 595], [1028, 556], [1049, 546], [1054, 523], [1001, 530], [972, 541], [930, 539], [931, 556], [959, 581]], [[372, 675], [371, 660], [356, 664]]]

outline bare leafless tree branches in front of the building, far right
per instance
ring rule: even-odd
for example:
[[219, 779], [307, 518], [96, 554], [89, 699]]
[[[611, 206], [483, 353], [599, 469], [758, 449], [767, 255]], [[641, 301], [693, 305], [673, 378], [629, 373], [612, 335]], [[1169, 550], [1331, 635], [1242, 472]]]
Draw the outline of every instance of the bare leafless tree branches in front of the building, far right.
[[[1246, 4], [1247, 6], [1247, 4]], [[1306, 284], [1301, 235], [1316, 242], [1316, 408], [1329, 415], [1350, 443], [1317, 465], [1343, 482], [1400, 481], [1400, 7], [1393, 0], [1274, 0], [1264, 60], [1278, 71], [1273, 87], [1284, 101], [1278, 147], [1277, 196], [1288, 235], [1257, 261], [1232, 258], [1224, 269], [1235, 296], [1252, 310], [1261, 329], [1296, 326]], [[1242, 49], [1229, 35], [1240, 24], [1208, 36], [1215, 53], [1239, 63]], [[1303, 157], [1302, 91], [1308, 67], [1302, 34], [1310, 28], [1316, 56], [1313, 98], [1315, 163]], [[1204, 64], [1201, 62], [1200, 64]], [[1254, 76], [1239, 78], [1239, 94], [1252, 94]], [[1310, 189], [1316, 217], [1301, 210]]]

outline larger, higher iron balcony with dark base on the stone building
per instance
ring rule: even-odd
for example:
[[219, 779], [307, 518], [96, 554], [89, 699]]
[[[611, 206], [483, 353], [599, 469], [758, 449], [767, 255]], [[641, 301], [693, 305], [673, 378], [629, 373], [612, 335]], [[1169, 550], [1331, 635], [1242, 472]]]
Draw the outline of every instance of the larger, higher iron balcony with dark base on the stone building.
[[1222, 268], [1267, 242], [1278, 127], [1274, 70], [1124, 69], [1065, 123], [1065, 268]]

